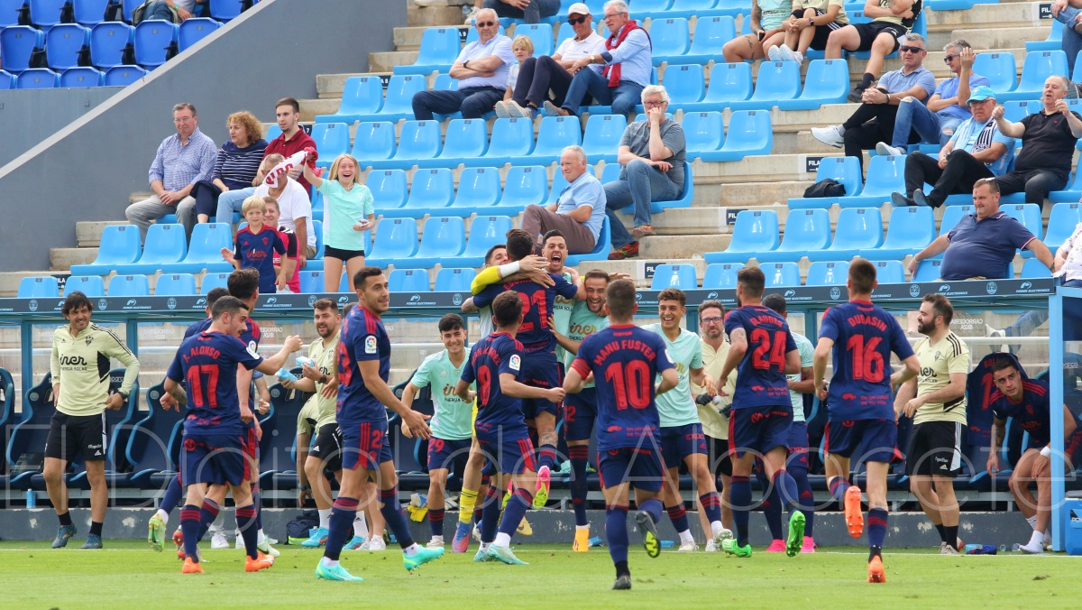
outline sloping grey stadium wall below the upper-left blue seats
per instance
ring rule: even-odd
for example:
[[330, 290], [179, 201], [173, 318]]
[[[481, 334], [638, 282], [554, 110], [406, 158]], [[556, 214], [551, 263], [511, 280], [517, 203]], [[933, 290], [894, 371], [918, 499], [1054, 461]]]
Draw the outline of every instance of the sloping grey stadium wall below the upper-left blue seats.
[[[173, 104], [195, 104], [201, 130], [221, 144], [230, 113], [249, 109], [273, 121], [275, 100], [316, 98], [317, 74], [366, 72], [368, 53], [393, 49], [394, 28], [406, 25], [405, 2], [373, 8], [357, 0], [260, 2], [183, 61], [154, 70], [31, 148], [13, 146], [26, 152], [0, 167], [0, 205], [8, 212], [0, 271], [49, 269], [50, 248], [76, 246], [76, 222], [122, 220], [131, 193], [149, 190], [155, 151], [174, 132]], [[39, 92], [10, 94], [21, 93]], [[5, 151], [8, 134], [27, 130], [48, 111], [26, 107], [32, 103], [0, 113]], [[71, 113], [78, 98], [56, 104]]]

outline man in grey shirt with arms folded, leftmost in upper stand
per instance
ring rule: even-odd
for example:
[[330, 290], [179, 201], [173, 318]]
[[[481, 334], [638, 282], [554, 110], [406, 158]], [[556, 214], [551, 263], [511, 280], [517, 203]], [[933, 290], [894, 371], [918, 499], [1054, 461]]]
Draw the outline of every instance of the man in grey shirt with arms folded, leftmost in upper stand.
[[496, 11], [483, 9], [474, 22], [477, 40], [466, 44], [451, 66], [451, 78], [459, 80], [456, 91], [419, 91], [413, 94], [413, 118], [432, 120], [433, 113], [451, 115], [459, 111], [462, 118], [481, 118], [503, 99], [507, 88], [507, 72], [515, 56], [511, 39], [498, 34], [500, 22]]

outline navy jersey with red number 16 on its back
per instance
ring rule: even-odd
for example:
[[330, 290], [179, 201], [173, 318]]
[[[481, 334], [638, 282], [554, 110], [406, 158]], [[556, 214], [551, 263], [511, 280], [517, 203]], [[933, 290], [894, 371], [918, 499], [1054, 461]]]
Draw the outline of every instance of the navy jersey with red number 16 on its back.
[[827, 310], [819, 337], [834, 341], [830, 420], [894, 417], [890, 352], [901, 360], [913, 355], [898, 321], [878, 304], [849, 301]]

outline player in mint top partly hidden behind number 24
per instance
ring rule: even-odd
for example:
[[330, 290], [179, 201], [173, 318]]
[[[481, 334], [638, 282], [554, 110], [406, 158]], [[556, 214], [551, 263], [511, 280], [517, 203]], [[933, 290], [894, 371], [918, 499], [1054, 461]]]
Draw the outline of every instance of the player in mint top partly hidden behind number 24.
[[[778, 315], [789, 322], [788, 307], [786, 298], [778, 294], [763, 297], [763, 307], [773, 309]], [[808, 425], [804, 421], [804, 394], [815, 391], [815, 381], [812, 379], [812, 362], [815, 348], [812, 341], [800, 333], [793, 333], [793, 341], [796, 342], [796, 351], [801, 353], [801, 372], [787, 375], [789, 380], [789, 400], [793, 403], [793, 424], [789, 427], [789, 457], [786, 460], [786, 470], [796, 481], [796, 491], [800, 493], [800, 509], [804, 514], [804, 542], [801, 553], [815, 553], [815, 496], [812, 493], [812, 483], [808, 482]], [[769, 504], [769, 506], [767, 505]], [[769, 497], [763, 502], [763, 514], [766, 516], [767, 525], [770, 528], [770, 535], [774, 542], [766, 549], [767, 553], [781, 553], [786, 549], [786, 543], [781, 540], [781, 502], [778, 497], [778, 489], [774, 488]]]

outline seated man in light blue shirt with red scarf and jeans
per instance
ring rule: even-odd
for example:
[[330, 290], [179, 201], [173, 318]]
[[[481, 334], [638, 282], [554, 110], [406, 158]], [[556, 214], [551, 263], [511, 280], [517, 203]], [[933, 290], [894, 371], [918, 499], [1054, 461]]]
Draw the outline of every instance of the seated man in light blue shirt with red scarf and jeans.
[[[549, 116], [578, 114], [588, 95], [593, 98], [595, 104], [611, 105], [613, 114], [626, 115], [635, 109], [643, 89], [650, 83], [654, 74], [650, 37], [628, 14], [628, 4], [623, 0], [605, 3], [605, 25], [609, 29], [606, 50], [571, 64], [568, 72], [575, 78], [567, 88], [564, 103], [559, 106], [552, 102], [544, 104]], [[604, 66], [601, 73], [582, 69], [594, 64]]]

